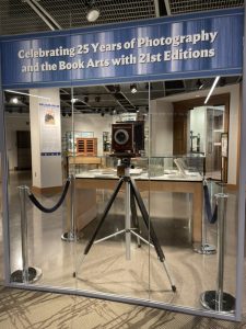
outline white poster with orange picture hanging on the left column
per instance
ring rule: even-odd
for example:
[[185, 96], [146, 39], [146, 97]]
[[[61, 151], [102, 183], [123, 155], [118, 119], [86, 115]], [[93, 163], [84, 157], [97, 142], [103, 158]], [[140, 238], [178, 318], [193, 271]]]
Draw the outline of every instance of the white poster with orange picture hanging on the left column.
[[40, 155], [60, 156], [60, 105], [39, 103]]

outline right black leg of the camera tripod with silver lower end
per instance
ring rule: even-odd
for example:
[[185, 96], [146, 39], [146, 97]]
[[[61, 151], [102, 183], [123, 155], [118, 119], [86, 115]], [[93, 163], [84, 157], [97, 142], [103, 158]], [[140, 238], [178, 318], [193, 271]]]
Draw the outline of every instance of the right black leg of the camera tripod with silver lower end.
[[174, 285], [174, 283], [172, 281], [172, 277], [171, 277], [169, 272], [167, 270], [167, 265], [165, 263], [165, 256], [164, 256], [163, 250], [162, 250], [162, 248], [160, 246], [159, 239], [157, 239], [157, 237], [155, 235], [153, 225], [152, 225], [151, 220], [149, 219], [149, 214], [148, 214], [145, 205], [144, 205], [144, 203], [142, 201], [141, 194], [139, 193], [139, 191], [138, 191], [138, 189], [137, 189], [136, 183], [134, 183], [133, 180], [130, 180], [129, 183], [130, 183], [132, 193], [133, 193], [133, 195], [136, 197], [136, 201], [138, 203], [139, 209], [140, 209], [140, 212], [142, 214], [143, 222], [144, 222], [148, 230], [150, 229], [151, 240], [152, 240], [152, 242], [154, 245], [154, 249], [155, 249], [155, 251], [157, 253], [157, 257], [159, 257], [160, 261], [164, 265], [164, 269], [166, 271], [167, 277], [168, 277], [171, 286], [172, 286], [172, 291], [176, 292], [176, 286]]

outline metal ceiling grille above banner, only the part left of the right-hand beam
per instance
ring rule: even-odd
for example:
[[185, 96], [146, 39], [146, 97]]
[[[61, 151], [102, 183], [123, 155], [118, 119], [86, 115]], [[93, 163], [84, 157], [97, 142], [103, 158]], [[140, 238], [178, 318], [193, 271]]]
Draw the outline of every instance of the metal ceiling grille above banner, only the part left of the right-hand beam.
[[[62, 29], [107, 24], [155, 18], [154, 0], [101, 0], [96, 1], [101, 15], [96, 23], [86, 21], [86, 0], [39, 0], [38, 3]], [[0, 34], [20, 34], [48, 31], [48, 26], [22, 0], [0, 1]]]

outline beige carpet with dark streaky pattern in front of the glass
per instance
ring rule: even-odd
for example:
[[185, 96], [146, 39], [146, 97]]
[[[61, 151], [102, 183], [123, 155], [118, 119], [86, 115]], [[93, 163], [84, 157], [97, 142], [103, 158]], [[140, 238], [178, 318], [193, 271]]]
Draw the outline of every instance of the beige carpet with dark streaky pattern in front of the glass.
[[0, 287], [1, 329], [239, 329], [241, 324], [81, 296]]

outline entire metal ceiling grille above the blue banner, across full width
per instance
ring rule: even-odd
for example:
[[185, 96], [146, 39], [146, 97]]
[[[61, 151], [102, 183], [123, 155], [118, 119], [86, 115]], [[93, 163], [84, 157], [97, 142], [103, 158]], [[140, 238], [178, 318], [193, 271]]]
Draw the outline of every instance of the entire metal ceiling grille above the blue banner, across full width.
[[[95, 23], [85, 19], [89, 0], [36, 0], [62, 29], [144, 20], [185, 12], [243, 7], [244, 0], [97, 0], [101, 15]], [[168, 8], [168, 10], [166, 10]], [[49, 31], [25, 0], [0, 1], [0, 34]]]

